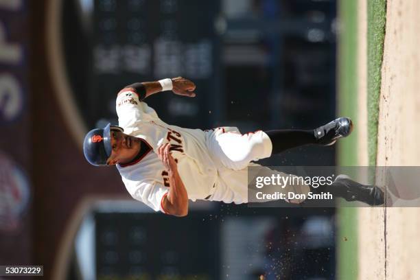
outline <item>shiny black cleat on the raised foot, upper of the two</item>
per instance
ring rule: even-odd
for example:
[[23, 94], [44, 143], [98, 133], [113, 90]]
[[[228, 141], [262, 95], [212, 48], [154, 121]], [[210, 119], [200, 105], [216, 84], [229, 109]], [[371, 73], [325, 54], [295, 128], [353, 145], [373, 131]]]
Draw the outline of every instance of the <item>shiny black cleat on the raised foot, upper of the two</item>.
[[337, 139], [347, 137], [353, 130], [353, 122], [348, 117], [339, 117], [325, 126], [314, 129], [316, 141], [320, 145], [333, 145]]

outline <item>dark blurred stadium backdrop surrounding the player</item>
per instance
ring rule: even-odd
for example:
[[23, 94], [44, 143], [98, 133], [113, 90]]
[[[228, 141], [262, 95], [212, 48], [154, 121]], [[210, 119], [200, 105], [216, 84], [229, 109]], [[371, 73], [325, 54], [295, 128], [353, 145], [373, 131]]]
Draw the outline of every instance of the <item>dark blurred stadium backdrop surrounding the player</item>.
[[[195, 202], [187, 218], [132, 200], [84, 160], [133, 82], [183, 76], [146, 102], [187, 128], [315, 128], [336, 116], [334, 0], [1, 0], [0, 264], [45, 279], [335, 279], [334, 208]], [[264, 165], [335, 165], [303, 147]]]

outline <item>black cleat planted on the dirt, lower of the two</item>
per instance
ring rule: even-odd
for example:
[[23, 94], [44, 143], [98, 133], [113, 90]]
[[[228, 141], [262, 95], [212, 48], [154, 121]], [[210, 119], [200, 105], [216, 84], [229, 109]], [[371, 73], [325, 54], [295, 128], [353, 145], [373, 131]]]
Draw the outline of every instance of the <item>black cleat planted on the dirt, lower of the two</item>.
[[371, 206], [383, 205], [384, 191], [374, 185], [362, 185], [346, 175], [338, 175], [331, 189], [347, 201], [360, 201]]

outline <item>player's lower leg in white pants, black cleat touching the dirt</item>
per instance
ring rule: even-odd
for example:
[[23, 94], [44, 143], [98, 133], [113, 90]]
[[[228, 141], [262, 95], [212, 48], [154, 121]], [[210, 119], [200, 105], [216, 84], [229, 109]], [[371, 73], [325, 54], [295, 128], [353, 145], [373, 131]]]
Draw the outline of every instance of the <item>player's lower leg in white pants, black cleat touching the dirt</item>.
[[[246, 202], [270, 202], [283, 199], [293, 204], [301, 204], [305, 202], [305, 198], [308, 197], [310, 191], [316, 194], [327, 192], [335, 198], [344, 198], [347, 201], [360, 201], [371, 206], [383, 205], [386, 198], [384, 190], [380, 187], [375, 185], [362, 185], [344, 175], [337, 176], [331, 185], [311, 187], [305, 184], [305, 180], [301, 176], [270, 170], [270, 168], [257, 165], [256, 163], [250, 163], [249, 167], [255, 168], [255, 170], [250, 171], [248, 168], [237, 171], [228, 170], [220, 174], [220, 182], [222, 183], [220, 185], [224, 189], [220, 191], [222, 196], [218, 195], [220, 196], [218, 200], [239, 204]], [[288, 181], [283, 185], [270, 183], [256, 187], [255, 183], [257, 181], [263, 182], [264, 178], [271, 178], [273, 175], [288, 178]], [[263, 178], [263, 180], [257, 180], [257, 177]], [[293, 198], [290, 198], [290, 193], [293, 194]], [[276, 194], [277, 198], [273, 199], [272, 194]], [[284, 198], [280, 198], [279, 194], [283, 194]], [[391, 202], [387, 200], [387, 205], [391, 205]]]

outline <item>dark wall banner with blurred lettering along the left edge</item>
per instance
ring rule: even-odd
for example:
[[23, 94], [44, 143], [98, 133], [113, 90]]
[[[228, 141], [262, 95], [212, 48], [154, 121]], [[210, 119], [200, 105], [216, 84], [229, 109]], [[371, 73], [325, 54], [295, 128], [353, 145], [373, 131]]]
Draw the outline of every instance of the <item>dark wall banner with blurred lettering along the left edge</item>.
[[27, 5], [0, 0], [0, 264], [30, 264]]

